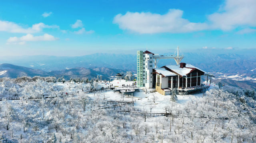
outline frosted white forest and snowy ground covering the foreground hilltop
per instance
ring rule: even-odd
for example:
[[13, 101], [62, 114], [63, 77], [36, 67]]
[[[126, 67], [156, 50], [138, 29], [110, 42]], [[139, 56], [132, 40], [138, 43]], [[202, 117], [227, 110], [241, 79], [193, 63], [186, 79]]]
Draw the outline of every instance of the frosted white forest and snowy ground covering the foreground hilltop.
[[194, 95], [92, 91], [122, 84], [132, 82], [0, 78], [0, 143], [256, 142], [254, 90], [212, 84]]

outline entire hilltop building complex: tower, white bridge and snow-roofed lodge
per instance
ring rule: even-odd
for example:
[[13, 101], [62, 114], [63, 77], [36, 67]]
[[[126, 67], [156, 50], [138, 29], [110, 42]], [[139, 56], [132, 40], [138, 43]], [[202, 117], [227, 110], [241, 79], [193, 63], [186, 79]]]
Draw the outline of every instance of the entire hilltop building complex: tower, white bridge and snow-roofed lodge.
[[[137, 86], [155, 88], [157, 92], [163, 95], [171, 94], [172, 90], [179, 94], [188, 94], [209, 88], [209, 86], [201, 84], [201, 76], [206, 75], [206, 72], [193, 65], [179, 63], [184, 56], [180, 60], [176, 60], [180, 57], [179, 53], [162, 56], [149, 51], [137, 51]], [[161, 58], [176, 58], [177, 65], [165, 65], [156, 68], [157, 59]]]

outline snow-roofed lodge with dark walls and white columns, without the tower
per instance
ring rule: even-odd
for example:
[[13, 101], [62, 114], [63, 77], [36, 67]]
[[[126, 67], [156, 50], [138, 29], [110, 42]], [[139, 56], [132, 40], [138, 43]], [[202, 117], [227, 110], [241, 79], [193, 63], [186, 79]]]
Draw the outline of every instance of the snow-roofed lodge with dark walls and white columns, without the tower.
[[153, 69], [153, 87], [163, 95], [171, 94], [173, 89], [188, 92], [204, 88], [201, 85], [201, 76], [204, 73], [201, 69], [186, 63], [155, 68]]

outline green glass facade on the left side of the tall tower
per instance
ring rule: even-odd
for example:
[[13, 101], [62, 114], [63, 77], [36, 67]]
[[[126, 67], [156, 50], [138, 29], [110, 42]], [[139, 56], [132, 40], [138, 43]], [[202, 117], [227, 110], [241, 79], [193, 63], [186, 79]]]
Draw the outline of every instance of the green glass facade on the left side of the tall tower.
[[143, 51], [137, 51], [137, 86], [143, 86]]

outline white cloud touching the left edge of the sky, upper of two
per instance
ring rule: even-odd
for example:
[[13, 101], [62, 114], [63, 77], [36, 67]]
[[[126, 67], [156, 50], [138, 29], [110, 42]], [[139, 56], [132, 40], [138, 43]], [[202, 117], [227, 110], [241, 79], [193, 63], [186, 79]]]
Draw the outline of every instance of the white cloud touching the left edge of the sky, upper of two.
[[10, 33], [37, 33], [42, 31], [44, 28], [59, 28], [58, 25], [46, 25], [42, 22], [32, 25], [32, 27], [23, 28], [14, 22], [1, 21], [0, 20], [0, 31], [6, 31]]

